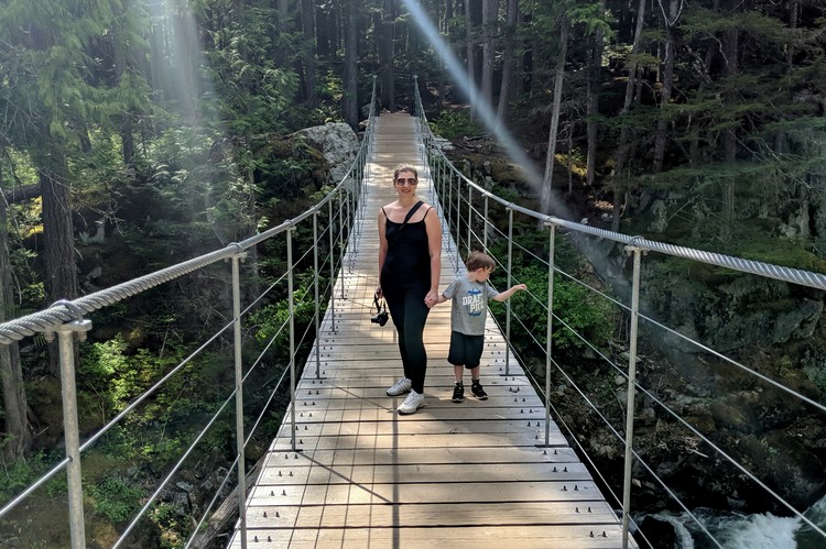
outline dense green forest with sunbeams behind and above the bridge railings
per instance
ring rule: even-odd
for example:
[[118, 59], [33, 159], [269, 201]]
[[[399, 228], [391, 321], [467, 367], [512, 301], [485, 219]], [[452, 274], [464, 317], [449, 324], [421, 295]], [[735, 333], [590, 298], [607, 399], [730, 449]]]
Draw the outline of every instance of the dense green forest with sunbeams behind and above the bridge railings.
[[[359, 132], [373, 78], [526, 206], [824, 273], [825, 46], [820, 0], [1, 0], [0, 322], [303, 211], [330, 166], [291, 139]], [[222, 321], [210, 288], [96, 319], [88, 418]], [[0, 373], [7, 501], [59, 454], [55, 343]]]

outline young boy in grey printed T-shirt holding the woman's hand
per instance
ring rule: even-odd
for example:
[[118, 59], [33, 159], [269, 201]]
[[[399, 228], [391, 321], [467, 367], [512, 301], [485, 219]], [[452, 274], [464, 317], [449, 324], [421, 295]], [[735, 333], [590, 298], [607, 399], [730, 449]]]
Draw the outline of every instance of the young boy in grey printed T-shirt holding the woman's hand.
[[479, 363], [485, 347], [485, 320], [488, 316], [488, 300], [504, 301], [520, 289], [528, 289], [524, 284], [517, 284], [501, 294], [488, 283], [496, 262], [481, 252], [472, 252], [465, 263], [467, 274], [450, 283], [438, 296], [438, 303], [453, 299], [450, 305], [450, 350], [447, 362], [453, 364], [456, 386], [453, 389], [454, 403], [465, 400], [465, 385], [461, 381], [465, 369], [470, 370], [472, 384], [470, 392], [479, 400], [487, 400], [479, 383]]

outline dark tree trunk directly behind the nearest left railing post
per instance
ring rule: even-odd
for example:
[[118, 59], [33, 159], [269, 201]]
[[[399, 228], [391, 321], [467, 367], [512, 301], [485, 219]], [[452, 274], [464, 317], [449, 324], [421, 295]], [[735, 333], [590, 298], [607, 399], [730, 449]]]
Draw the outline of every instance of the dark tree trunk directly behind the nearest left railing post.
[[[52, 305], [61, 299], [74, 299], [78, 296], [72, 197], [68, 184], [47, 168], [41, 168], [40, 184], [43, 194], [44, 282], [47, 305]], [[56, 338], [50, 343], [48, 351], [50, 371], [59, 376]], [[75, 351], [77, 356], [77, 344]]]

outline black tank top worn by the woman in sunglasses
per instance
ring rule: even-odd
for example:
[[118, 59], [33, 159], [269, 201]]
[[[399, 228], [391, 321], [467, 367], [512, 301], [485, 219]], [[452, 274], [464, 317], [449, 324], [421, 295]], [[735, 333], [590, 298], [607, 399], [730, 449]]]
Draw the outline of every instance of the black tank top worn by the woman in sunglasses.
[[[425, 217], [427, 216], [425, 211]], [[424, 219], [415, 223], [387, 220], [384, 235], [388, 254], [381, 270], [382, 289], [393, 287], [431, 286], [431, 253]]]

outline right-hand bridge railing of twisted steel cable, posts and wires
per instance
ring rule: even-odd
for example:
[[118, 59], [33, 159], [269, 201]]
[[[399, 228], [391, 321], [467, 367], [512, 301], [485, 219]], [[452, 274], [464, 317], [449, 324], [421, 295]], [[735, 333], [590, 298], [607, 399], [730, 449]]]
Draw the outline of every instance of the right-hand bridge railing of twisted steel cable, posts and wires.
[[[695, 427], [689, 418], [684, 417], [678, 406], [664, 396], [663, 391], [659, 387], [644, 386], [638, 381], [638, 364], [641, 358], [638, 353], [638, 344], [641, 333], [648, 342], [660, 341], [660, 344], [678, 348], [682, 352], [691, 352], [708, 356], [718, 362], [722, 367], [731, 371], [739, 371], [748, 376], [757, 386], [770, 387], [776, 391], [781, 397], [779, 402], [785, 402], [791, 398], [802, 406], [808, 407], [815, 415], [826, 411], [823, 403], [801, 394], [794, 388], [785, 385], [782, 380], [778, 381], [769, 375], [760, 373], [757, 367], [743, 364], [741, 361], [727, 355], [725, 352], [713, 349], [713, 345], [699, 341], [698, 338], [692, 337], [691, 333], [684, 333], [678, 328], [666, 326], [656, 320], [650, 314], [641, 310], [641, 300], [645, 303], [645, 292], [641, 287], [642, 283], [642, 264], [643, 257], [649, 253], [657, 253], [662, 256], [672, 256], [694, 262], [695, 264], [705, 264], [715, 267], [726, 267], [732, 272], [747, 273], [753, 276], [781, 281], [779, 286], [789, 285], [789, 287], [808, 287], [815, 289], [826, 289], [826, 276], [819, 273], [813, 273], [804, 270], [789, 268], [780, 265], [762, 263], [757, 261], [745, 260], [702, 250], [694, 250], [685, 246], [673, 245], [664, 242], [653, 241], [641, 237], [630, 237], [622, 233], [607, 231], [597, 227], [585, 223], [572, 222], [554, 216], [547, 216], [529, 208], [524, 208], [511, 200], [501, 198], [491, 193], [485, 186], [468, 178], [454, 163], [443, 153], [441, 143], [444, 140], [437, 139], [433, 134], [422, 106], [419, 86], [414, 85], [416, 109], [415, 113], [420, 122], [421, 133], [424, 140], [424, 150], [426, 152], [426, 163], [428, 164], [434, 185], [442, 200], [442, 208], [445, 216], [443, 220], [445, 230], [450, 231], [453, 239], [457, 243], [449, 253], [455, 254], [454, 261], [458, 266], [463, 257], [471, 250], [478, 249], [492, 255], [498, 264], [498, 270], [503, 271], [500, 278], [504, 278], [504, 289], [513, 284], [526, 283], [526, 279], [519, 278], [519, 271], [514, 270], [517, 263], [521, 265], [530, 264], [534, 270], [544, 270], [544, 288], [529, 287], [528, 299], [532, 301], [534, 310], [539, 308], [543, 311], [544, 318], [536, 319], [534, 316], [520, 316], [515, 311], [513, 300], [506, 301], [503, 319], [501, 321], [502, 332], [509, 342], [509, 349], [506, 354], [504, 375], [508, 375], [509, 361], [511, 356], [522, 355], [523, 365], [529, 362], [529, 355], [544, 358], [544, 384], [541, 381], [533, 380], [534, 385], [540, 389], [545, 400], [545, 444], [550, 436], [550, 419], [552, 411], [555, 419], [562, 422], [564, 429], [567, 429], [569, 440], [574, 441], [579, 449], [580, 455], [586, 459], [591, 470], [599, 475], [605, 482], [606, 488], [610, 491], [616, 504], [622, 509], [623, 543], [628, 543], [628, 536], [632, 524], [632, 486], [639, 485], [642, 480], [653, 482], [663, 494], [672, 501], [671, 507], [682, 508], [686, 516], [696, 524], [696, 529], [700, 536], [705, 535], [708, 542], [718, 547], [721, 541], [708, 531], [703, 520], [695, 516], [689, 505], [681, 499], [677, 495], [678, 490], [670, 486], [666, 480], [657, 474], [661, 463], [653, 457], [656, 453], [654, 448], [639, 448], [634, 444], [634, 428], [640, 421], [640, 402], [638, 396], [643, 399], [654, 410], [654, 416], [659, 421], [667, 421], [671, 425], [684, 429], [686, 437], [686, 452], [694, 453], [698, 459], [711, 459], [729, 464], [739, 475], [748, 479], [758, 490], [762, 490], [768, 496], [775, 502], [778, 508], [785, 509], [789, 515], [796, 516], [800, 520], [812, 529], [814, 536], [820, 542], [826, 542], [826, 532], [808, 517], [804, 516], [804, 510], [795, 508], [787, 498], [779, 494], [776, 485], [768, 479], [761, 479], [750, 469], [748, 463], [737, 460], [733, 454], [736, 449], [726, 448], [721, 442], [715, 441], [710, 432]], [[537, 246], [535, 233], [530, 237], [514, 234], [514, 216], [522, 220], [532, 220], [532, 226], [542, 226], [547, 230], [547, 243]], [[616, 290], [617, 287], [624, 287], [624, 290], [612, 292], [611, 288], [600, 284], [601, 273], [593, 276], [590, 281], [577, 277], [566, 272], [559, 264], [559, 257], [555, 256], [555, 246], [559, 242], [573, 244], [572, 249], [582, 254], [582, 257], [595, 265], [595, 271], [601, 267], [597, 266], [608, 251], [606, 242], [616, 242], [624, 248], [626, 253], [631, 259], [630, 273], [624, 268], [612, 268], [611, 285]], [[599, 245], [599, 244], [602, 245]], [[542, 250], [537, 252], [536, 250]], [[546, 253], [546, 255], [542, 255]], [[602, 265], [604, 266], [604, 265]], [[524, 270], [522, 270], [524, 272]], [[554, 281], [554, 283], [550, 283]], [[570, 284], [577, 288], [586, 290], [583, 299], [590, 306], [600, 310], [615, 311], [621, 315], [626, 320], [626, 341], [621, 352], [612, 352], [606, 349], [605, 342], [595, 341], [595, 338], [587, 333], [576, 319], [566, 316], [564, 306], [555, 301], [555, 288], [559, 284]], [[530, 286], [530, 285], [529, 285]], [[543, 292], [546, 289], [546, 294]], [[791, 298], [791, 292], [786, 292]], [[521, 294], [520, 294], [521, 295]], [[577, 294], [578, 295], [578, 294]], [[525, 298], [520, 298], [525, 299]], [[802, 301], [805, 299], [801, 299]], [[526, 308], [522, 308], [524, 310]], [[610, 314], [607, 315], [610, 318]], [[544, 323], [544, 326], [537, 322]], [[540, 333], [544, 331], [544, 333]], [[611, 396], [607, 400], [620, 399], [620, 407], [624, 408], [624, 421], [618, 422], [611, 420], [610, 407], [605, 399], [595, 398], [594, 391], [586, 386], [590, 380], [577, 378], [572, 373], [569, 364], [557, 361], [558, 351], [554, 353], [555, 336], [564, 332], [566, 341], [574, 341], [575, 347], [579, 347], [583, 353], [596, 358], [597, 361], [607, 365], [598, 367], [601, 381], [597, 382]], [[514, 340], [520, 340], [523, 344], [518, 345]], [[531, 375], [531, 369], [524, 369]], [[709, 374], [713, 375], [713, 374]], [[616, 383], [618, 376], [624, 380], [624, 386], [621, 391], [617, 389]], [[590, 377], [590, 376], [589, 376]], [[616, 438], [617, 446], [624, 448], [622, 486], [621, 493], [613, 490], [610, 477], [616, 477], [612, 471], [606, 471], [600, 468], [598, 459], [594, 458], [583, 439], [569, 428], [564, 417], [556, 410], [554, 400], [559, 394], [558, 385], [552, 387], [552, 380], [565, 384], [573, 391], [576, 397], [590, 410], [594, 416], [594, 422], [597, 427], [611, 433]], [[544, 385], [544, 388], [543, 388]], [[645, 418], [646, 420], [651, 418]], [[691, 440], [691, 442], [689, 442]], [[714, 455], [705, 455], [698, 448], [708, 449]], [[784, 451], [783, 448], [775, 450]], [[616, 484], [616, 483], [615, 483]], [[691, 481], [689, 481], [691, 484]], [[685, 486], [683, 486], [685, 488]], [[699, 488], [699, 486], [697, 486]], [[644, 532], [642, 532], [644, 536]]]

